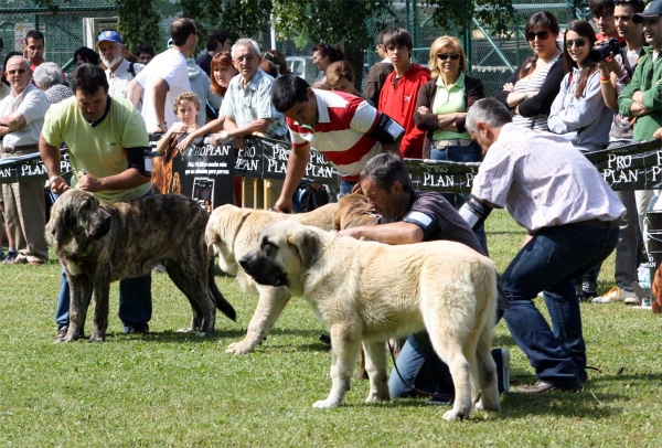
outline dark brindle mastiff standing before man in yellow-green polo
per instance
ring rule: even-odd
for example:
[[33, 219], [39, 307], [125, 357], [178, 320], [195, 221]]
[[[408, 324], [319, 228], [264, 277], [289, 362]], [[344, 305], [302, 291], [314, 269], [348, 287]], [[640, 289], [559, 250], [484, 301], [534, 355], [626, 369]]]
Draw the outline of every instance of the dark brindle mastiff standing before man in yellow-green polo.
[[110, 282], [148, 275], [163, 265], [193, 308], [189, 330], [212, 333], [216, 308], [235, 310], [216, 288], [204, 230], [209, 214], [193, 200], [158, 194], [115, 204], [82, 190], [67, 190], [53, 204], [46, 241], [71, 286], [70, 326], [63, 341], [81, 338], [94, 292], [92, 342], [104, 341]]

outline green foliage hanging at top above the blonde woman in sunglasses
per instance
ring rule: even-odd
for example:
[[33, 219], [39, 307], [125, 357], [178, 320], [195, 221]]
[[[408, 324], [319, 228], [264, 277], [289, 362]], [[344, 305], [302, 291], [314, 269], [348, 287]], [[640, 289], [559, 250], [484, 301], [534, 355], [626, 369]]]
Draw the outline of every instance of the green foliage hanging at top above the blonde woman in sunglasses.
[[440, 28], [467, 28], [471, 19], [477, 19], [502, 33], [515, 13], [513, 0], [420, 0], [420, 3], [437, 7], [433, 20]]

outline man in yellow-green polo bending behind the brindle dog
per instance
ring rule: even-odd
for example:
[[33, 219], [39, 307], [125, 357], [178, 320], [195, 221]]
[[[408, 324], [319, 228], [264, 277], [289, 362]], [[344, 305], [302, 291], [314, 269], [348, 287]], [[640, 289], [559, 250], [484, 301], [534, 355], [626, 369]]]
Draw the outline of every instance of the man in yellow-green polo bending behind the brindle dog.
[[[151, 192], [151, 159], [145, 121], [130, 102], [108, 95], [102, 68], [83, 64], [71, 87], [74, 97], [53, 105], [44, 119], [39, 150], [49, 172], [51, 191], [70, 185], [60, 172], [60, 143], [68, 148], [72, 186], [100, 201], [129, 201]], [[66, 335], [70, 290], [64, 269], [57, 298], [56, 341]], [[121, 280], [119, 318], [125, 331], [147, 333], [151, 319], [151, 276]]]

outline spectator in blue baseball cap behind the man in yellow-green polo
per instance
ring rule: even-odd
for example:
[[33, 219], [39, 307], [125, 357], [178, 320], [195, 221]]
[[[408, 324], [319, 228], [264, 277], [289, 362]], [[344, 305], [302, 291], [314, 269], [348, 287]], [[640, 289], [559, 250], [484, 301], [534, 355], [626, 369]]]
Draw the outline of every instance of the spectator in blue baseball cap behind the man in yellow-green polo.
[[[106, 66], [106, 77], [110, 86], [108, 93], [126, 98], [129, 83], [145, 65], [129, 62], [124, 57], [124, 41], [115, 30], [102, 31], [97, 38], [97, 49], [99, 49], [102, 62]], [[138, 108], [140, 108], [140, 105], [138, 105]]]

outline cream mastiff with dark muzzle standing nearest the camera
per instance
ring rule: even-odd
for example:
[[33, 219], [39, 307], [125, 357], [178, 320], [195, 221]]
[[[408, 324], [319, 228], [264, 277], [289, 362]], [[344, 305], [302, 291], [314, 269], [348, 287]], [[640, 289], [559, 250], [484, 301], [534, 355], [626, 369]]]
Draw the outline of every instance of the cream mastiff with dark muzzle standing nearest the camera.
[[305, 297], [328, 326], [332, 387], [314, 407], [342, 404], [362, 342], [366, 402], [388, 399], [384, 341], [427, 330], [455, 383], [444, 418], [467, 418], [474, 404], [500, 410], [490, 353], [496, 271], [489, 258], [455, 242], [389, 246], [280, 222], [263, 231], [239, 264], [260, 285]]

